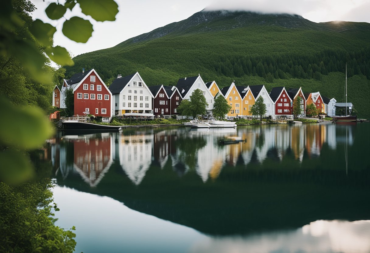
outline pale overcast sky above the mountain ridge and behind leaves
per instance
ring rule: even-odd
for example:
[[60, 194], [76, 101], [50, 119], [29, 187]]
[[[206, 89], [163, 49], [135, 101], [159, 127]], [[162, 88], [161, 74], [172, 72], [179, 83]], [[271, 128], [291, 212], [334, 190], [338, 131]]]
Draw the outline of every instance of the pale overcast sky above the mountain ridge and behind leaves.
[[[54, 45], [67, 48], [73, 56], [113, 47], [122, 41], [147, 33], [166, 24], [184, 20], [192, 14], [206, 10], [252, 10], [265, 13], [294, 13], [313, 22], [355, 21], [370, 23], [370, 0], [116, 0], [119, 12], [115, 21], [96, 22], [81, 13], [78, 4], [65, 18], [80, 16], [90, 19], [94, 32], [87, 43], [75, 43], [61, 33], [64, 18], [50, 20], [44, 10], [50, 2], [31, 0], [37, 8], [34, 18], [57, 26]], [[64, 3], [64, 0], [60, 0]]]

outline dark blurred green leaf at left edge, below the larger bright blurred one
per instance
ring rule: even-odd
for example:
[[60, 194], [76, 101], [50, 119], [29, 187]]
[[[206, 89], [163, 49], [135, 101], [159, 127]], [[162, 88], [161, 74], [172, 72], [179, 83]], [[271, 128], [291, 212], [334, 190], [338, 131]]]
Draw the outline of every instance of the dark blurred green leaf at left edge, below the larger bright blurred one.
[[19, 151], [0, 151], [0, 161], [0, 182], [17, 185], [33, 176], [30, 158]]

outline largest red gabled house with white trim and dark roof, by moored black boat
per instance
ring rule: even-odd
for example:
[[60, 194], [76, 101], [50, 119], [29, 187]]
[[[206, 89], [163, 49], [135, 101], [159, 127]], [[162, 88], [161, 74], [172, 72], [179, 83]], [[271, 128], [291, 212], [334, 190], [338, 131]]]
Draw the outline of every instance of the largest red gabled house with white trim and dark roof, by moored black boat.
[[62, 87], [61, 108], [65, 108], [64, 90], [73, 89], [74, 115], [91, 114], [103, 117], [108, 122], [112, 118], [112, 93], [94, 69], [74, 74], [64, 80]]

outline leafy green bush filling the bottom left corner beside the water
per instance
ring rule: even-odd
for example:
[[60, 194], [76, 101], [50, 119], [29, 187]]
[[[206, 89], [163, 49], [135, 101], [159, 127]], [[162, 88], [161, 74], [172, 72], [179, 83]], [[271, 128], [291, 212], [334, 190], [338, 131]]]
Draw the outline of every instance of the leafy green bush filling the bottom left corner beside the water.
[[[50, 180], [9, 186], [0, 182], [0, 252], [73, 252], [76, 235], [54, 225]], [[74, 227], [71, 228], [75, 230]]]

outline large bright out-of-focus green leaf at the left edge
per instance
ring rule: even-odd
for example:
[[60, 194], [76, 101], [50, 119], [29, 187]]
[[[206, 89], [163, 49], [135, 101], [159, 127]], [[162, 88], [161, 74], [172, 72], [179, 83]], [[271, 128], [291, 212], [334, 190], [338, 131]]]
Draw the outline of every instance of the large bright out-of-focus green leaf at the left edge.
[[0, 143], [3, 146], [33, 149], [53, 134], [50, 122], [38, 107], [16, 107], [0, 97]]

